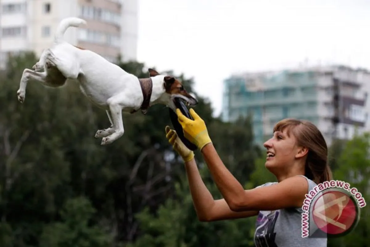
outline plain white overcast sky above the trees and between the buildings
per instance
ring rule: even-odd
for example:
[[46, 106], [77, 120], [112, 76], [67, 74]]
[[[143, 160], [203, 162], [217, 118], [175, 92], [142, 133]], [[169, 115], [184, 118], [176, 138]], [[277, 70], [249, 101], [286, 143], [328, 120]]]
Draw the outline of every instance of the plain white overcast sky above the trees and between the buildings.
[[233, 73], [302, 64], [370, 69], [368, 0], [138, 1], [138, 61], [193, 78], [214, 116]]

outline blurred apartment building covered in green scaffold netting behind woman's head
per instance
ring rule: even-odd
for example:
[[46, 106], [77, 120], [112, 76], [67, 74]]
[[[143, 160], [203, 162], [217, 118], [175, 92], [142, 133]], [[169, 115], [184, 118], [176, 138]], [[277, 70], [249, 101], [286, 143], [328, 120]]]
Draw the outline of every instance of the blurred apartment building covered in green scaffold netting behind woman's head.
[[261, 145], [277, 121], [305, 119], [330, 145], [370, 131], [369, 91], [370, 72], [345, 66], [238, 74], [224, 80], [222, 119], [250, 115]]

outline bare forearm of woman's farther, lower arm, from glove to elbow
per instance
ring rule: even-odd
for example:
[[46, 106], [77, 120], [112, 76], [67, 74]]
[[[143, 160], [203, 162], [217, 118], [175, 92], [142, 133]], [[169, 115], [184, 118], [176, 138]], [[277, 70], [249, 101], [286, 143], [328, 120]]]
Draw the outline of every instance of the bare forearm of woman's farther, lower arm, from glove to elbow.
[[215, 200], [205, 186], [194, 158], [185, 163], [194, 208], [200, 220], [207, 218]]

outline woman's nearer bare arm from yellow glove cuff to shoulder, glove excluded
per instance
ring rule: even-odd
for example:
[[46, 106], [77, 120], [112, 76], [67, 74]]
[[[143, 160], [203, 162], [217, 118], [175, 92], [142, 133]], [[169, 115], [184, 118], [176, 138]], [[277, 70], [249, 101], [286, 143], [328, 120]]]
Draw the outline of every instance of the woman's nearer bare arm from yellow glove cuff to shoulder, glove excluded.
[[304, 177], [291, 177], [271, 186], [244, 190], [225, 167], [212, 143], [206, 144], [201, 152], [213, 180], [232, 211], [276, 210], [302, 206], [308, 191], [308, 183]]

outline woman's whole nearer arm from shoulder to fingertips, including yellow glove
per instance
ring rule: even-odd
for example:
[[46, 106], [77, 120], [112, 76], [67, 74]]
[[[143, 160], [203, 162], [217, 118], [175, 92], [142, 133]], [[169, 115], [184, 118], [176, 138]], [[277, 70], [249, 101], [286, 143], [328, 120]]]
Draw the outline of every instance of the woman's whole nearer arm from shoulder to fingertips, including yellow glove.
[[184, 136], [201, 150], [213, 180], [232, 211], [277, 210], [302, 206], [308, 191], [307, 180], [302, 176], [290, 177], [271, 186], [244, 190], [222, 163], [208, 135], [205, 122], [193, 109], [189, 113], [194, 120], [188, 119], [176, 109]]

